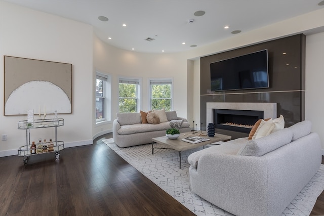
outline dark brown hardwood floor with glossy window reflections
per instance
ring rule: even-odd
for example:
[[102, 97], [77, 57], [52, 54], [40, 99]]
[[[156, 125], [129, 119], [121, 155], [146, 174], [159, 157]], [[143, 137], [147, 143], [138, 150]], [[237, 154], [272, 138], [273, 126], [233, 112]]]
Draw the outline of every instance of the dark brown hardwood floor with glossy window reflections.
[[[194, 215], [108, 148], [0, 158], [0, 215]], [[322, 163], [324, 159], [322, 160]], [[311, 215], [324, 215], [324, 193]]]

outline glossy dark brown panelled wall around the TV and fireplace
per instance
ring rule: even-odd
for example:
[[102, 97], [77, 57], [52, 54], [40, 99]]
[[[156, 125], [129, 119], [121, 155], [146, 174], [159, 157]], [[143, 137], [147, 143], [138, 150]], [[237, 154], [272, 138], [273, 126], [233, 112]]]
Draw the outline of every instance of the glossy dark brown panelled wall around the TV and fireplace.
[[[211, 92], [210, 63], [264, 49], [268, 50], [269, 88]], [[206, 119], [207, 102], [275, 102], [277, 115], [285, 117], [286, 127], [304, 120], [305, 35], [275, 39], [200, 58], [200, 119]], [[206, 123], [203, 129], [206, 130]], [[234, 135], [242, 136], [246, 134]]]

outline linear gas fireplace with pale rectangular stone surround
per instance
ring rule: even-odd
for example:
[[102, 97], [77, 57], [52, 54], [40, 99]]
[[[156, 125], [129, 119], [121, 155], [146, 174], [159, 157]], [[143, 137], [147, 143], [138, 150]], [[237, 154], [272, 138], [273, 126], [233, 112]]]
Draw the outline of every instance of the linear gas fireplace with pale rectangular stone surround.
[[207, 123], [218, 129], [250, 133], [260, 118], [276, 118], [276, 103], [207, 103]]

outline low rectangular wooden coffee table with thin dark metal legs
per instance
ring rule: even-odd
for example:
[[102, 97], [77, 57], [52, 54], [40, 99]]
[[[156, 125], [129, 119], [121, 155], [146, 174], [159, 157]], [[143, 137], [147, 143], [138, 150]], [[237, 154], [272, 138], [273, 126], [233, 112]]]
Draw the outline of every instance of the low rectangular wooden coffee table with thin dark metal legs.
[[[167, 138], [166, 136], [152, 138], [152, 154], [154, 154], [154, 149], [174, 149], [176, 151], [179, 151], [179, 157], [180, 157], [180, 165], [179, 166], [181, 168], [181, 152], [182, 151], [189, 150], [189, 149], [194, 149], [194, 148], [197, 148], [199, 146], [203, 146], [205, 148], [205, 145], [215, 143], [215, 142], [219, 142], [219, 141], [227, 141], [227, 140], [232, 139], [231, 136], [227, 136], [227, 135], [223, 135], [223, 134], [215, 134], [214, 137], [208, 137], [207, 132], [203, 132], [203, 134], [206, 134], [206, 136], [203, 136], [203, 137], [208, 138], [210, 140], [200, 142], [200, 143], [196, 143], [196, 144], [187, 143], [187, 142], [184, 142], [184, 141], [181, 140], [181, 139], [183, 139], [185, 137], [195, 137], [195, 136], [197, 136], [197, 135], [190, 134], [190, 133], [192, 133], [192, 132], [181, 133], [180, 137], [178, 139], [176, 139], [176, 140], [171, 140], [171, 139]], [[186, 135], [190, 135], [190, 136], [186, 136]], [[164, 147], [154, 147], [154, 143], [162, 144]]]

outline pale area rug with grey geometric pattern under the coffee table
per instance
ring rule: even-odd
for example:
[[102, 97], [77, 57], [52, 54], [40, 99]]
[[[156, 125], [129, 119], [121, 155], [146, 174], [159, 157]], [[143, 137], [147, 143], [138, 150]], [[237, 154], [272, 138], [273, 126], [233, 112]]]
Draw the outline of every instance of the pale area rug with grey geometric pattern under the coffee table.
[[[179, 168], [179, 152], [167, 149], [154, 149], [152, 145], [119, 148], [113, 139], [102, 140], [118, 155], [139, 170], [145, 177], [166, 191], [196, 215], [233, 215], [200, 198], [190, 190], [189, 166], [187, 157], [203, 147], [181, 152], [181, 168]], [[158, 144], [154, 144], [157, 147]], [[324, 165], [320, 166], [315, 176], [296, 196], [282, 215], [308, 216], [314, 207], [317, 197], [324, 190]]]

